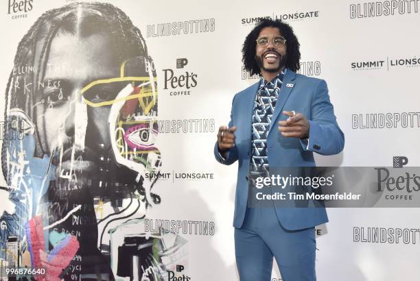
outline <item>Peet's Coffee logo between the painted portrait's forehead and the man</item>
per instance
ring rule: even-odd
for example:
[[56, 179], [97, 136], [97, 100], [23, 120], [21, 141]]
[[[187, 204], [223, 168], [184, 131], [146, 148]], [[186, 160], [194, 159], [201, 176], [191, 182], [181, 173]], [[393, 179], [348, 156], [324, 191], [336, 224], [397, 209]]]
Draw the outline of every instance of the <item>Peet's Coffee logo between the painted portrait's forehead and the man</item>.
[[[187, 58], [176, 59], [176, 69], [184, 69], [187, 66]], [[180, 97], [191, 95], [191, 88], [197, 86], [197, 74], [192, 71], [174, 71], [173, 69], [163, 69], [165, 75], [164, 89], [170, 91], [170, 96]]]

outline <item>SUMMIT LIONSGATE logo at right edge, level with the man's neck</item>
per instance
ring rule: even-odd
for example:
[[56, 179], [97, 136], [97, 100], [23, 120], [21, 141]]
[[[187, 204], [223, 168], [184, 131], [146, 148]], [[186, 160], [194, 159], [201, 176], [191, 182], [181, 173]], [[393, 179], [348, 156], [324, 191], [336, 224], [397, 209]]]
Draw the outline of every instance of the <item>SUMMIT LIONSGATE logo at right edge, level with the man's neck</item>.
[[420, 57], [413, 56], [412, 58], [389, 58], [384, 60], [362, 60], [358, 62], [351, 62], [351, 69], [354, 71], [377, 71], [391, 69], [399, 66], [406, 66], [408, 68], [420, 67]]

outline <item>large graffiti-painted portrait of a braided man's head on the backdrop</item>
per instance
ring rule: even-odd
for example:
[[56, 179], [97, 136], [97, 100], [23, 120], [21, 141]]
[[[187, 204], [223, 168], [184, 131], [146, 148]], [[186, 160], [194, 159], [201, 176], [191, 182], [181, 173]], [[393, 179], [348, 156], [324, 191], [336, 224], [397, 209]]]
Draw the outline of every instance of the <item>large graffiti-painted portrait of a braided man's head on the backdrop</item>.
[[145, 176], [161, 169], [152, 64], [108, 3], [49, 10], [23, 36], [5, 90], [2, 258], [46, 269], [37, 280], [163, 280], [182, 258], [180, 236], [144, 231], [161, 203]]

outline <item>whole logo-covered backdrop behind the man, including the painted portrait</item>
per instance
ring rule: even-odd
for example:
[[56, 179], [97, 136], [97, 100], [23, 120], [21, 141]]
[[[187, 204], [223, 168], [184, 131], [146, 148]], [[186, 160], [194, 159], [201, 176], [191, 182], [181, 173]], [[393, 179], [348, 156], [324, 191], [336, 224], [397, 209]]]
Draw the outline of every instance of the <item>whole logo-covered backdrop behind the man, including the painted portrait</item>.
[[[327, 81], [346, 144], [319, 165], [419, 166], [419, 8], [2, 1], [0, 279], [27, 267], [47, 280], [239, 280], [237, 164], [218, 164], [213, 145], [233, 95], [258, 80], [241, 48], [261, 17], [290, 23], [299, 73]], [[419, 209], [327, 211], [318, 280], [419, 279]]]

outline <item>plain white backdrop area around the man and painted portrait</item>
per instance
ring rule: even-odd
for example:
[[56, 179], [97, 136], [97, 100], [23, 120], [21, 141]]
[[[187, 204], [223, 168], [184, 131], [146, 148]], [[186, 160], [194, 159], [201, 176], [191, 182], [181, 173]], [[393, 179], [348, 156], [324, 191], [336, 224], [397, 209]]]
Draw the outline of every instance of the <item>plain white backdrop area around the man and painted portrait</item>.
[[[33, 9], [23, 19], [12, 19], [7, 2], [0, 5], [3, 88], [13, 68], [19, 40], [40, 14], [70, 1], [34, 0]], [[420, 166], [418, 1], [376, 1], [383, 3], [382, 10], [377, 10], [380, 4], [375, 4], [376, 10], [369, 10], [368, 2], [356, 0], [106, 2], [126, 12], [145, 38], [156, 67], [159, 120], [201, 119], [209, 124], [201, 130], [198, 127], [198, 132], [196, 123], [185, 127], [184, 132], [182, 128], [180, 132], [160, 132], [157, 145], [162, 153], [162, 171], [170, 176], [154, 186], [154, 193], [161, 195], [162, 203], [147, 215], [150, 223], [154, 219], [214, 223], [214, 233], [196, 234], [194, 230], [179, 233], [188, 241], [185, 268], [191, 280], [239, 280], [231, 226], [237, 164], [229, 167], [218, 164], [213, 158], [213, 145], [217, 128], [229, 121], [233, 95], [257, 81], [243, 79], [240, 52], [246, 34], [253, 28], [247, 22], [253, 18], [282, 16], [292, 25], [301, 43], [301, 73], [327, 81], [346, 143], [342, 154], [317, 157], [318, 164], [392, 166], [393, 156], [406, 156], [408, 166]], [[295, 13], [301, 18], [292, 19]], [[180, 31], [157, 36], [162, 24], [196, 20], [200, 20], [198, 29], [194, 26], [192, 32], [189, 29], [187, 34]], [[200, 32], [201, 24], [207, 22], [208, 31]], [[176, 68], [179, 58], [188, 61], [183, 69]], [[412, 64], [395, 66], [396, 60], [404, 60], [404, 64], [410, 60]], [[352, 67], [362, 62], [377, 63], [365, 68]], [[176, 76], [186, 72], [196, 74], [196, 86], [172, 89], [168, 82], [165, 89], [164, 69], [171, 69]], [[190, 93], [173, 95], [174, 91]], [[4, 99], [0, 99], [0, 108], [3, 116]], [[363, 128], [366, 114], [391, 113], [400, 117], [403, 112], [413, 112], [412, 124], [397, 121], [392, 127]], [[353, 123], [355, 119], [358, 123]], [[211, 176], [187, 180], [179, 178], [182, 173]], [[354, 228], [364, 229], [365, 233], [368, 228], [419, 230], [418, 208], [327, 211], [330, 222], [317, 228], [318, 280], [419, 280], [419, 232], [408, 243], [362, 242], [353, 236]], [[281, 280], [277, 268], [272, 278]]]

